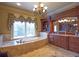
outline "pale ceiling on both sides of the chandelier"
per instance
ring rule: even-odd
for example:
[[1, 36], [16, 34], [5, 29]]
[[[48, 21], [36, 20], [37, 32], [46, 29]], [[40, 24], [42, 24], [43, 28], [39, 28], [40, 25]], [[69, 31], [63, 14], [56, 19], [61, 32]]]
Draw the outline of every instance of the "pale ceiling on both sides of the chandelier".
[[[16, 7], [31, 12], [33, 10], [34, 5], [38, 4], [38, 2], [20, 2], [21, 6], [17, 6], [16, 3], [17, 2], [0, 2], [1, 5]], [[79, 5], [79, 2], [43, 2], [43, 3], [48, 7], [47, 9], [48, 15], [56, 14]]]

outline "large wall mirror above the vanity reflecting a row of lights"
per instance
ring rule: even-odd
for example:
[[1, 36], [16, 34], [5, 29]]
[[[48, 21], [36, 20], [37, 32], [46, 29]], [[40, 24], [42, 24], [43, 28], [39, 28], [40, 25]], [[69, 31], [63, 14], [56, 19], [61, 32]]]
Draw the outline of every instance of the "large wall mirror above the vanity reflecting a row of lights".
[[78, 18], [77, 17], [65, 17], [58, 20], [59, 31], [61, 32], [78, 32]]

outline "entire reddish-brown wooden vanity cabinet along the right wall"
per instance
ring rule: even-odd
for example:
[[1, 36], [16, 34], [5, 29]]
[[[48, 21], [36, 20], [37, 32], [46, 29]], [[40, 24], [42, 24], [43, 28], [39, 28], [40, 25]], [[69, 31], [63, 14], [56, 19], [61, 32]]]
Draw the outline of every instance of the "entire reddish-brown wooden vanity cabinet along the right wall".
[[49, 43], [58, 47], [79, 53], [79, 37], [52, 34], [48, 36]]

